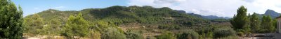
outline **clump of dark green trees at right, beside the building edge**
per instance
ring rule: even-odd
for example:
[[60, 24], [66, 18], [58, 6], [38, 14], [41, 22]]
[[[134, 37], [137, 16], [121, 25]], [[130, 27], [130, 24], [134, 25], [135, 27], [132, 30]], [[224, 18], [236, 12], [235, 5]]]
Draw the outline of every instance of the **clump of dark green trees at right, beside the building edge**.
[[277, 20], [272, 19], [270, 15], [263, 15], [261, 18], [256, 13], [247, 15], [247, 8], [244, 6], [237, 10], [237, 15], [234, 15], [230, 22], [239, 36], [243, 36], [244, 33], [273, 33], [277, 26]]

